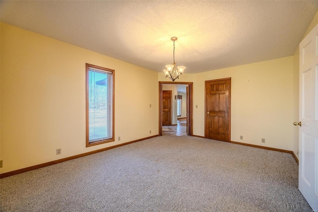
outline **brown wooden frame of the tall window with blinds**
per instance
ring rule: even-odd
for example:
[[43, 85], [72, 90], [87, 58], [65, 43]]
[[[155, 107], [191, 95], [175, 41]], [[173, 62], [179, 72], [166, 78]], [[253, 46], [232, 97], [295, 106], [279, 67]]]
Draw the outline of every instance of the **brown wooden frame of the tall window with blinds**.
[[[111, 131], [112, 131], [112, 137], [109, 139], [104, 139], [101, 141], [93, 141], [93, 142], [89, 142], [89, 68], [92, 69], [98, 69], [101, 71], [105, 71], [105, 72], [111, 72], [111, 95], [112, 95], [112, 121], [111, 121]], [[108, 143], [108, 142], [112, 142], [115, 141], [115, 70], [112, 69], [108, 69], [108, 68], [104, 68], [104, 67], [100, 67], [100, 66], [96, 66], [96, 65], [91, 65], [86, 63], [86, 69], [85, 69], [85, 89], [86, 89], [86, 97], [85, 97], [85, 104], [86, 104], [86, 147], [89, 146], [94, 146], [94, 145], [98, 145], [98, 144], [103, 144], [103, 143]]]

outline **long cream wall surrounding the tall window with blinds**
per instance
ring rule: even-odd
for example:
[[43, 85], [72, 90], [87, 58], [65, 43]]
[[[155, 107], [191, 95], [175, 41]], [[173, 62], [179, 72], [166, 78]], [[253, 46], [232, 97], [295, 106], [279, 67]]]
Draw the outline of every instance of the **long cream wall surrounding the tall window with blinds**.
[[[158, 134], [157, 72], [4, 23], [0, 33], [0, 173]], [[88, 148], [85, 63], [115, 70], [116, 140]]]

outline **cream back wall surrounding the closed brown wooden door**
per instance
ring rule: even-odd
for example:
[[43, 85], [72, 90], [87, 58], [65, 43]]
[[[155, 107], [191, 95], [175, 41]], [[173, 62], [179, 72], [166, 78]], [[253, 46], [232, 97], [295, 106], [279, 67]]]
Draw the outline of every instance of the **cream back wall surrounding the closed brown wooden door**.
[[[162, 77], [159, 73], [159, 81]], [[182, 82], [193, 82], [193, 134], [204, 136], [205, 81], [229, 77], [231, 140], [292, 150], [293, 56], [182, 78]], [[266, 142], [261, 143], [261, 138]]]

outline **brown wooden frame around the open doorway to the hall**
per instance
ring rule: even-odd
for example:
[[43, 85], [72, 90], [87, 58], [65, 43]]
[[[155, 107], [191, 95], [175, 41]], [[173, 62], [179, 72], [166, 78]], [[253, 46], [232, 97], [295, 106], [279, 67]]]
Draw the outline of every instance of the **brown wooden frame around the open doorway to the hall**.
[[162, 82], [159, 81], [159, 136], [162, 135], [162, 85], [163, 84], [172, 84], [172, 85], [188, 85], [189, 86], [189, 101], [190, 101], [190, 108], [189, 108], [189, 120], [190, 120], [190, 131], [189, 136], [193, 135], [193, 82]]

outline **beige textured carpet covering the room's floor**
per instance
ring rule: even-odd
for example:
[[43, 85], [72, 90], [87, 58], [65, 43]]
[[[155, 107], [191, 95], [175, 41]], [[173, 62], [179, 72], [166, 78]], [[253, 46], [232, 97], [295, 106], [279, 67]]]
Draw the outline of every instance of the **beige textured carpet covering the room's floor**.
[[1, 212], [311, 212], [291, 154], [160, 136], [0, 179]]

